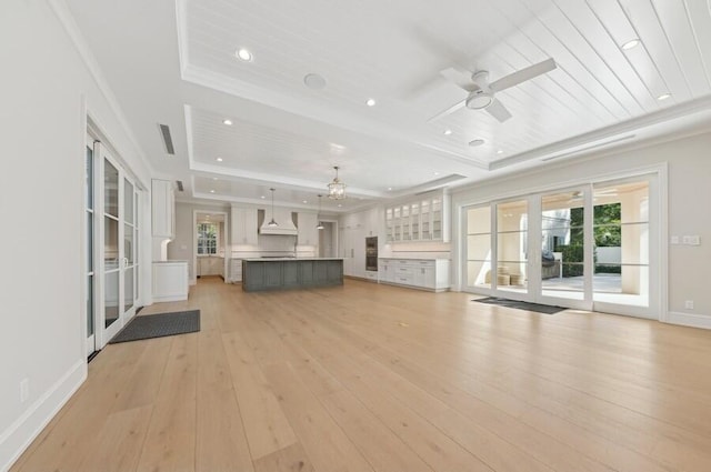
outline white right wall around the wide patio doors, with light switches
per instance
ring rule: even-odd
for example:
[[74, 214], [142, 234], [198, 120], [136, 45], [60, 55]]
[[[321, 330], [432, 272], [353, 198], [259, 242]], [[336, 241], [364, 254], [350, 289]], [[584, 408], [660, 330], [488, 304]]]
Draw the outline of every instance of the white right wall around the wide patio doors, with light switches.
[[[711, 261], [711, 218], [705, 202], [711, 201], [711, 134], [684, 138], [678, 141], [630, 149], [610, 155], [597, 155], [571, 163], [558, 163], [535, 171], [527, 171], [505, 179], [480, 182], [452, 194], [454, 228], [452, 231], [453, 260], [459, 260], [461, 241], [457, 219], [461, 205], [491, 199], [537, 192], [543, 188], [564, 187], [581, 179], [594, 181], [627, 174], [651, 167], [668, 165], [669, 235], [700, 235], [701, 245], [668, 245], [668, 307], [658, 313], [662, 320], [711, 328], [711, 295], [708, 290], [708, 265]], [[663, 182], [662, 182], [663, 183]], [[663, 187], [663, 185], [662, 185]], [[663, 198], [663, 195], [662, 195]], [[662, 221], [663, 224], [663, 221]], [[658, 254], [664, 257], [667, 254]], [[460, 265], [455, 262], [455, 265]], [[455, 283], [459, 280], [455, 270]], [[684, 301], [693, 300], [694, 310], [684, 310]]]

